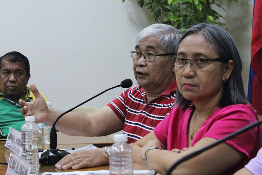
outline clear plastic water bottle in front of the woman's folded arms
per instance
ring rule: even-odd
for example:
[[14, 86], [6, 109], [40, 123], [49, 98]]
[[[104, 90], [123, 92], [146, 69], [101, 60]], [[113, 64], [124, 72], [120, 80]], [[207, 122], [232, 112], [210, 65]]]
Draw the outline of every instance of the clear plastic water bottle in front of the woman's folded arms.
[[109, 150], [110, 175], [132, 175], [132, 148], [127, 144], [126, 134], [114, 134], [114, 144]]

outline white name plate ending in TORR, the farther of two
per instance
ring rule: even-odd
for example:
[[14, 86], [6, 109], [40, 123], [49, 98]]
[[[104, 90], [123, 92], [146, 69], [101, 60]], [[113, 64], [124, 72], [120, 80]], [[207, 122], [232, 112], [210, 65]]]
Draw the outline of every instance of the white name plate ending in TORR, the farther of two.
[[5, 146], [9, 148], [11, 151], [21, 156], [22, 153], [21, 132], [10, 127]]

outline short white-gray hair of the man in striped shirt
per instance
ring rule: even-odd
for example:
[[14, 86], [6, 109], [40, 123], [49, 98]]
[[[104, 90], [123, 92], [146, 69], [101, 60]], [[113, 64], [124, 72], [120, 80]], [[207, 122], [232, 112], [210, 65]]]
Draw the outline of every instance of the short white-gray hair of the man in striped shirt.
[[181, 37], [180, 32], [167, 24], [152, 24], [137, 34], [136, 44], [147, 36], [155, 36], [159, 39], [161, 47], [166, 53], [176, 52]]

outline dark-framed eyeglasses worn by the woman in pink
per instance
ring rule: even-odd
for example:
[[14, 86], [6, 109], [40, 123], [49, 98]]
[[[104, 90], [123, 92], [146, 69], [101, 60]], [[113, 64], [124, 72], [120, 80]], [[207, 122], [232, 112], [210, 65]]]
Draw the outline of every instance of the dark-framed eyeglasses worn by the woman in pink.
[[187, 61], [189, 60], [190, 65], [193, 67], [204, 67], [206, 65], [207, 61], [219, 61], [222, 62], [223, 60], [221, 58], [191, 58], [191, 59], [186, 59], [183, 57], [179, 57], [179, 56], [174, 56], [171, 57], [172, 61], [173, 61], [173, 65], [175, 66], [184, 66], [186, 65]]

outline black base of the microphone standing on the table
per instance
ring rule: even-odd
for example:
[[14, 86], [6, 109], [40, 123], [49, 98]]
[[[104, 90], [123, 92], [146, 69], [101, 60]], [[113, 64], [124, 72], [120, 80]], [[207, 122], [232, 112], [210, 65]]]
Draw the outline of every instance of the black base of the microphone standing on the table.
[[70, 154], [64, 150], [60, 149], [48, 149], [47, 151], [41, 154], [41, 157], [47, 157], [47, 162], [43, 164], [46, 165], [55, 165], [59, 160], [61, 160], [64, 156]]

